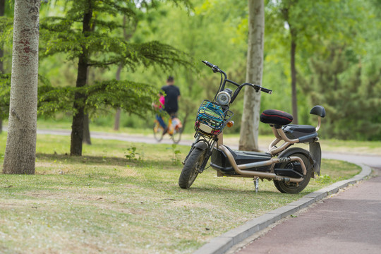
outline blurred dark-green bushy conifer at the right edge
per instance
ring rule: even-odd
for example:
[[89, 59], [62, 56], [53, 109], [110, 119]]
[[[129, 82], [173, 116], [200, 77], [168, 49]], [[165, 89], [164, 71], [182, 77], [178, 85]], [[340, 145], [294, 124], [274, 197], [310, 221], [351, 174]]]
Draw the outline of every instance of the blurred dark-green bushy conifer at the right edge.
[[[375, 140], [380, 138], [381, 68], [363, 73], [361, 64], [351, 63], [351, 51], [330, 45], [328, 56], [310, 62], [313, 75], [306, 90], [313, 104], [327, 110], [322, 133], [328, 138]], [[379, 66], [379, 65], [377, 65]]]

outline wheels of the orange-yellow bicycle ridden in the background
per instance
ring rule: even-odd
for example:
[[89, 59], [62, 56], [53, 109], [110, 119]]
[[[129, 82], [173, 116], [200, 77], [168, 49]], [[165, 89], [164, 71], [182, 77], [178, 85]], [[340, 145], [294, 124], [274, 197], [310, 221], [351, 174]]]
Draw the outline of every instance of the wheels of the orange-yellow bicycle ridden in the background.
[[[154, 126], [153, 126], [153, 133], [154, 137], [157, 140], [157, 142], [162, 141], [164, 136], [164, 128], [160, 125], [159, 121], [155, 119]], [[167, 133], [171, 136], [171, 140], [177, 144], [181, 140], [181, 133], [183, 133], [183, 125], [180, 121], [180, 119], [174, 117], [169, 117], [168, 120], [168, 131]]]

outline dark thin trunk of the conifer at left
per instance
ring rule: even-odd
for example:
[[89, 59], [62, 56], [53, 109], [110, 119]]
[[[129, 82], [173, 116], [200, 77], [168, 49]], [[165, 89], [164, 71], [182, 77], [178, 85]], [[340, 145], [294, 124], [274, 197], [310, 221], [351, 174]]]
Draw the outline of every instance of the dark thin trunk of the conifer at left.
[[[90, 32], [90, 21], [92, 18], [92, 8], [87, 6], [87, 13], [83, 17], [83, 33]], [[87, 62], [88, 62], [88, 50], [83, 47], [83, 53], [78, 60], [78, 74], [76, 87], [84, 87], [87, 80]], [[83, 119], [85, 117], [85, 100], [86, 95], [82, 92], [75, 92], [74, 104], [73, 104], [73, 123], [71, 125], [71, 146], [70, 155], [81, 156], [82, 155], [82, 143], [83, 143]]]

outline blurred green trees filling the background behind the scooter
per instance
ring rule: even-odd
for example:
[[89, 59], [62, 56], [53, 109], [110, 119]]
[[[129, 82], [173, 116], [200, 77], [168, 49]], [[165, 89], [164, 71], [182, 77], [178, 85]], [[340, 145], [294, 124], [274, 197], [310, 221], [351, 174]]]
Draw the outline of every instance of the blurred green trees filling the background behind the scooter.
[[[8, 4], [11, 1], [6, 1]], [[68, 18], [68, 1], [42, 1], [40, 19], [48, 16]], [[69, 1], [71, 2], [71, 1]], [[99, 1], [101, 2], [101, 1]], [[107, 0], [107, 3], [117, 2]], [[145, 83], [159, 89], [167, 75], [174, 75], [176, 85], [181, 89], [179, 115], [191, 132], [192, 121], [202, 99], [212, 99], [219, 83], [219, 75], [205, 68], [201, 60], [218, 65], [228, 73], [231, 80], [243, 83], [246, 78], [246, 57], [248, 51], [248, 2], [241, 0], [190, 0], [183, 1], [123, 1], [133, 4], [135, 16], [127, 20], [128, 43], [141, 44], [158, 41], [185, 52], [183, 60], [191, 66], [157, 68], [135, 66], [123, 68], [120, 80], [131, 83]], [[152, 4], [154, 4], [152, 6]], [[180, 4], [179, 8], [176, 4]], [[381, 55], [380, 30], [381, 1], [379, 0], [331, 0], [331, 1], [289, 1], [265, 0], [265, 46], [262, 85], [274, 90], [272, 95], [262, 95], [262, 109], [280, 109], [295, 112], [296, 104], [299, 124], [313, 124], [309, 116], [314, 104], [327, 109], [323, 119], [322, 138], [357, 140], [379, 140], [381, 138]], [[49, 8], [48, 8], [49, 7]], [[95, 27], [110, 37], [123, 37], [123, 30], [112, 33], [102, 24], [113, 22], [123, 25], [123, 15], [102, 16], [95, 14]], [[100, 21], [101, 18], [106, 18]], [[99, 20], [99, 24], [97, 24]], [[133, 21], [133, 22], [132, 22]], [[1, 18], [1, 29], [6, 29], [6, 20]], [[82, 27], [74, 26], [81, 30]], [[3, 32], [4, 73], [10, 73], [11, 43]], [[9, 34], [9, 33], [8, 33]], [[63, 40], [63, 39], [62, 39]], [[44, 42], [41, 42], [44, 43]], [[45, 42], [46, 43], [46, 42]], [[103, 44], [104, 52], [108, 48]], [[294, 45], [294, 50], [293, 50]], [[102, 51], [101, 50], [101, 51]], [[293, 53], [294, 52], [294, 53]], [[50, 87], [65, 89], [65, 95], [73, 95], [78, 61], [68, 58], [72, 54], [66, 48], [56, 54], [46, 54], [40, 60], [40, 75]], [[94, 56], [99, 56], [95, 54]], [[8, 59], [8, 60], [7, 60]], [[119, 65], [90, 70], [88, 82], [91, 85], [105, 80], [116, 80]], [[95, 69], [94, 69], [95, 70]], [[7, 119], [6, 77], [2, 76], [0, 89], [0, 116]], [[91, 86], [88, 87], [90, 89]], [[293, 89], [294, 87], [294, 97]], [[94, 87], [95, 88], [95, 87]], [[46, 87], [40, 80], [40, 95]], [[39, 90], [39, 91], [40, 91]], [[92, 103], [100, 97], [92, 97]], [[42, 97], [41, 97], [42, 99]], [[73, 108], [73, 104], [63, 105]], [[135, 103], [127, 97], [117, 98], [121, 104]], [[53, 117], [71, 126], [69, 110], [50, 111], [40, 101], [40, 117]], [[149, 102], [151, 103], [151, 102]], [[46, 105], [46, 104], [45, 104]], [[90, 104], [89, 104], [90, 105]], [[114, 126], [115, 109], [119, 104], [97, 104], [90, 113], [92, 123]], [[294, 106], [295, 107], [295, 106]], [[238, 133], [243, 109], [243, 93], [232, 107], [235, 112], [233, 128], [226, 133]], [[86, 110], [85, 110], [86, 111]], [[1, 113], [3, 112], [3, 113]], [[6, 112], [6, 113], [4, 113]], [[145, 110], [147, 112], [147, 110]], [[121, 111], [120, 125], [133, 128], [150, 128], [152, 113], [131, 115], [133, 111]], [[42, 116], [41, 116], [42, 115]], [[188, 124], [187, 124], [188, 123]], [[270, 133], [270, 128], [260, 124], [260, 134]]]

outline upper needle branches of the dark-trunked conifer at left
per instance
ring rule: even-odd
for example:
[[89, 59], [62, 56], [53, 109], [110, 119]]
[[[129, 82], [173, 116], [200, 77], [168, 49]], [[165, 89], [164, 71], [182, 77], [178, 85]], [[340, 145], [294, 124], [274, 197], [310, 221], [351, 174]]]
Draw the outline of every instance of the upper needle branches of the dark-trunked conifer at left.
[[[143, 4], [147, 5], [145, 1]], [[73, 60], [85, 53], [88, 66], [118, 64], [132, 71], [140, 64], [170, 68], [174, 63], [185, 63], [179, 57], [181, 52], [169, 45], [155, 41], [133, 44], [121, 36], [140, 12], [133, 1], [66, 1], [66, 8], [63, 17], [41, 18], [42, 56], [65, 52], [67, 59]], [[80, 29], [87, 16], [90, 28]], [[123, 16], [131, 22], [123, 24]]]

